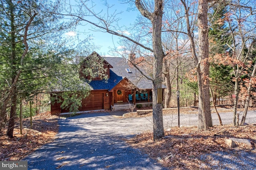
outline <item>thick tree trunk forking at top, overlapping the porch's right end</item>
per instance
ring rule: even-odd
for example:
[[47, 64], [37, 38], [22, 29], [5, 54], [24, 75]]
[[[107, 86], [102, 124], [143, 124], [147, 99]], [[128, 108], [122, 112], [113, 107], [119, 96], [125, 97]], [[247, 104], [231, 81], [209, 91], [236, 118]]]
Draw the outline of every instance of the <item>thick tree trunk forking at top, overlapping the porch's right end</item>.
[[153, 139], [158, 140], [164, 136], [162, 102], [157, 101], [157, 89], [162, 88], [162, 66], [164, 51], [162, 49], [162, 16], [163, 1], [155, 0], [154, 12], [150, 13], [140, 0], [135, 1], [136, 7], [142, 16], [148, 18], [152, 23], [152, 45], [154, 51], [153, 67]]

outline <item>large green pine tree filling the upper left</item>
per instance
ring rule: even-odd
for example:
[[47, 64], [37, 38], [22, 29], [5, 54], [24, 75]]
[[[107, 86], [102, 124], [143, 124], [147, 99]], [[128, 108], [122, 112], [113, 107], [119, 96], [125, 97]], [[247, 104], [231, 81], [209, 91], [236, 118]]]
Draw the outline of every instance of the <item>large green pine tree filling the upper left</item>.
[[[62, 16], [54, 14], [56, 10], [58, 2], [48, 0], [1, 1], [0, 129], [8, 122], [7, 135], [11, 138], [19, 96], [29, 98], [36, 93], [47, 93], [51, 85], [58, 88], [59, 80], [66, 82], [62, 88], [80, 88], [78, 65], [73, 64], [78, 55], [76, 45], [62, 38], [75, 23], [63, 22]], [[81, 49], [77, 50], [84, 53], [86, 45], [79, 45]], [[88, 87], [80, 90], [88, 94]]]

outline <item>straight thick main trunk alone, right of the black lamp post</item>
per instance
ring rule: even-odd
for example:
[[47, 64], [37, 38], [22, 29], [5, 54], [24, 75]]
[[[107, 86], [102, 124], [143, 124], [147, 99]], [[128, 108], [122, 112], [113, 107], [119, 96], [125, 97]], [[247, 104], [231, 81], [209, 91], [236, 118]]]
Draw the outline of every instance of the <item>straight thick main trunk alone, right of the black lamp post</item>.
[[[203, 107], [203, 117], [206, 121], [204, 123], [199, 123], [200, 125], [204, 125], [204, 128], [207, 129], [208, 127], [212, 127], [212, 115], [210, 109], [210, 90], [209, 90], [209, 42], [208, 42], [208, 0], [199, 0], [198, 1], [198, 56], [200, 61], [200, 71], [201, 77], [198, 77], [198, 80], [201, 78], [201, 85], [202, 85], [202, 92], [200, 95], [199, 101], [201, 103], [201, 107]], [[199, 83], [200, 84], [200, 83]], [[200, 87], [201, 88], [201, 87]], [[202, 120], [202, 119], [200, 119]]]

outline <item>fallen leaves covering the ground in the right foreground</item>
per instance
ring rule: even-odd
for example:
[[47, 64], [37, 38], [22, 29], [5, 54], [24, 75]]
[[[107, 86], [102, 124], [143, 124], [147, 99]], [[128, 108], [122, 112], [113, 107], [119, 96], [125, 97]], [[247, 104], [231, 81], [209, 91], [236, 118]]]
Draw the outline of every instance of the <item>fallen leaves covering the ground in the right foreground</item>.
[[[152, 132], [145, 132], [127, 142], [164, 166], [174, 169], [200, 169], [199, 166], [206, 163], [199, 159], [198, 156], [201, 154], [237, 149], [253, 152], [256, 146], [255, 125], [214, 126], [209, 130], [198, 130], [196, 127], [173, 127], [165, 132], [165, 135], [166, 139], [154, 142]], [[229, 148], [225, 139], [230, 137], [250, 139], [252, 146], [239, 145], [236, 148]]]

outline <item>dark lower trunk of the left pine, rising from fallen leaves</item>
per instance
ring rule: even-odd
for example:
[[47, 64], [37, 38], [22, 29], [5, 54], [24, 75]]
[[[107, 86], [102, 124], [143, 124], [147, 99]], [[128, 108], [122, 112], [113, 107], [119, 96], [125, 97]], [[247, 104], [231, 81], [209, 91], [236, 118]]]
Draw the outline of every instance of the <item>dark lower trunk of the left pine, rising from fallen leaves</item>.
[[16, 116], [16, 107], [17, 107], [16, 88], [14, 89], [11, 103], [12, 103], [12, 105], [11, 105], [11, 109], [10, 109], [10, 119], [9, 119], [7, 133], [6, 133], [9, 138], [13, 138], [13, 130], [14, 130], [14, 126], [15, 126], [15, 116]]

